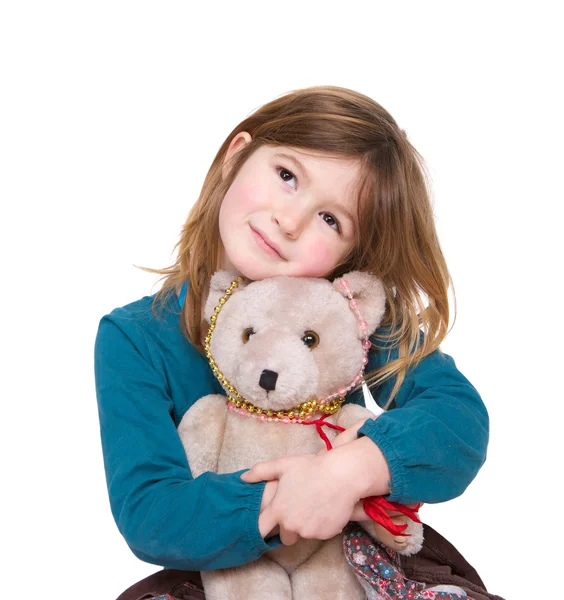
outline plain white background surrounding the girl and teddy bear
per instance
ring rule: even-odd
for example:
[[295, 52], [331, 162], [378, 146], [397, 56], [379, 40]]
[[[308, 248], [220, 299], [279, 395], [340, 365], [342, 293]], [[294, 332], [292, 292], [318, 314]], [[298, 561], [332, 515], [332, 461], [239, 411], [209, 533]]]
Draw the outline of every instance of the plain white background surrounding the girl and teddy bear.
[[[109, 508], [100, 318], [158, 290], [207, 169], [261, 104], [340, 85], [425, 157], [488, 460], [423, 518], [490, 591], [562, 559], [562, 80], [556, 2], [3, 2], [2, 592], [114, 599], [158, 570]], [[39, 592], [41, 590], [41, 593]], [[47, 591], [45, 591], [47, 590]], [[25, 595], [25, 594], [24, 594]]]

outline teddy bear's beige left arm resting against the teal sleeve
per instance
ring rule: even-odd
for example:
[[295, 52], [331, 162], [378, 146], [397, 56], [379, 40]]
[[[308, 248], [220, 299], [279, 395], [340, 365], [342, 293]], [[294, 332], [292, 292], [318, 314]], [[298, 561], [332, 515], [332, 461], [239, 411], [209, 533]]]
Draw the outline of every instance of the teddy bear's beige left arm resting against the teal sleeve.
[[220, 394], [200, 398], [182, 417], [178, 435], [186, 451], [192, 477], [206, 471], [217, 473], [226, 418], [226, 399]]

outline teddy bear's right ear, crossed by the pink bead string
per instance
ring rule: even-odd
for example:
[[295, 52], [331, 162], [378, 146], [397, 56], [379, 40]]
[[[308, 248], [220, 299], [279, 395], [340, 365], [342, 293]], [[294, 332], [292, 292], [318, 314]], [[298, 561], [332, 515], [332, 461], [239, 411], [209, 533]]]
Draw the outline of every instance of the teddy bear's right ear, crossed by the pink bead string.
[[[346, 283], [346, 285], [343, 285]], [[362, 271], [351, 271], [335, 279], [333, 287], [347, 300], [347, 288], [355, 300], [361, 318], [368, 324], [368, 335], [372, 335], [380, 325], [386, 310], [386, 292], [382, 282]], [[354, 310], [354, 305], [351, 309]], [[357, 328], [359, 337], [362, 338], [362, 329]]]

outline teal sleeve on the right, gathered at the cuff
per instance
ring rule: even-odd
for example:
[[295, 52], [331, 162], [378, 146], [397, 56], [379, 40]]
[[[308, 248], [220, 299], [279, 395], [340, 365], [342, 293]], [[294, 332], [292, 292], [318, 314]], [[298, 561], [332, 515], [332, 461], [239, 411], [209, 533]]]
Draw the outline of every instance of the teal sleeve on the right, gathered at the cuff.
[[[378, 353], [376, 363], [393, 358]], [[383, 406], [393, 386], [375, 390]], [[472, 384], [440, 350], [408, 372], [392, 404], [359, 430], [382, 450], [390, 468], [391, 494], [398, 502], [443, 502], [462, 494], [486, 459], [489, 419]]]

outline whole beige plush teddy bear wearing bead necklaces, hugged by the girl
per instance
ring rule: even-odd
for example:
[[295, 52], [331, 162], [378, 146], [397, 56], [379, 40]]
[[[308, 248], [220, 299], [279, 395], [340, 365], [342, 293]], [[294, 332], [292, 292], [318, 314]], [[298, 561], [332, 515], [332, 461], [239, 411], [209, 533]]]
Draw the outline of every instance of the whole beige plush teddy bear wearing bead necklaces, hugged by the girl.
[[[178, 426], [193, 476], [314, 454], [325, 447], [324, 439], [336, 437], [337, 427], [374, 417], [344, 399], [362, 381], [368, 338], [385, 304], [382, 283], [359, 271], [333, 282], [288, 276], [248, 282], [233, 272], [216, 272], [204, 308], [209, 315], [204, 347], [227, 396], [200, 398]], [[312, 419], [329, 425], [304, 426]], [[373, 521], [361, 525], [374, 539], [393, 543]], [[421, 523], [408, 521], [405, 533], [395, 549], [417, 552]], [[203, 571], [202, 581], [209, 600], [366, 598], [345, 558], [342, 535], [299, 539], [243, 566]]]

